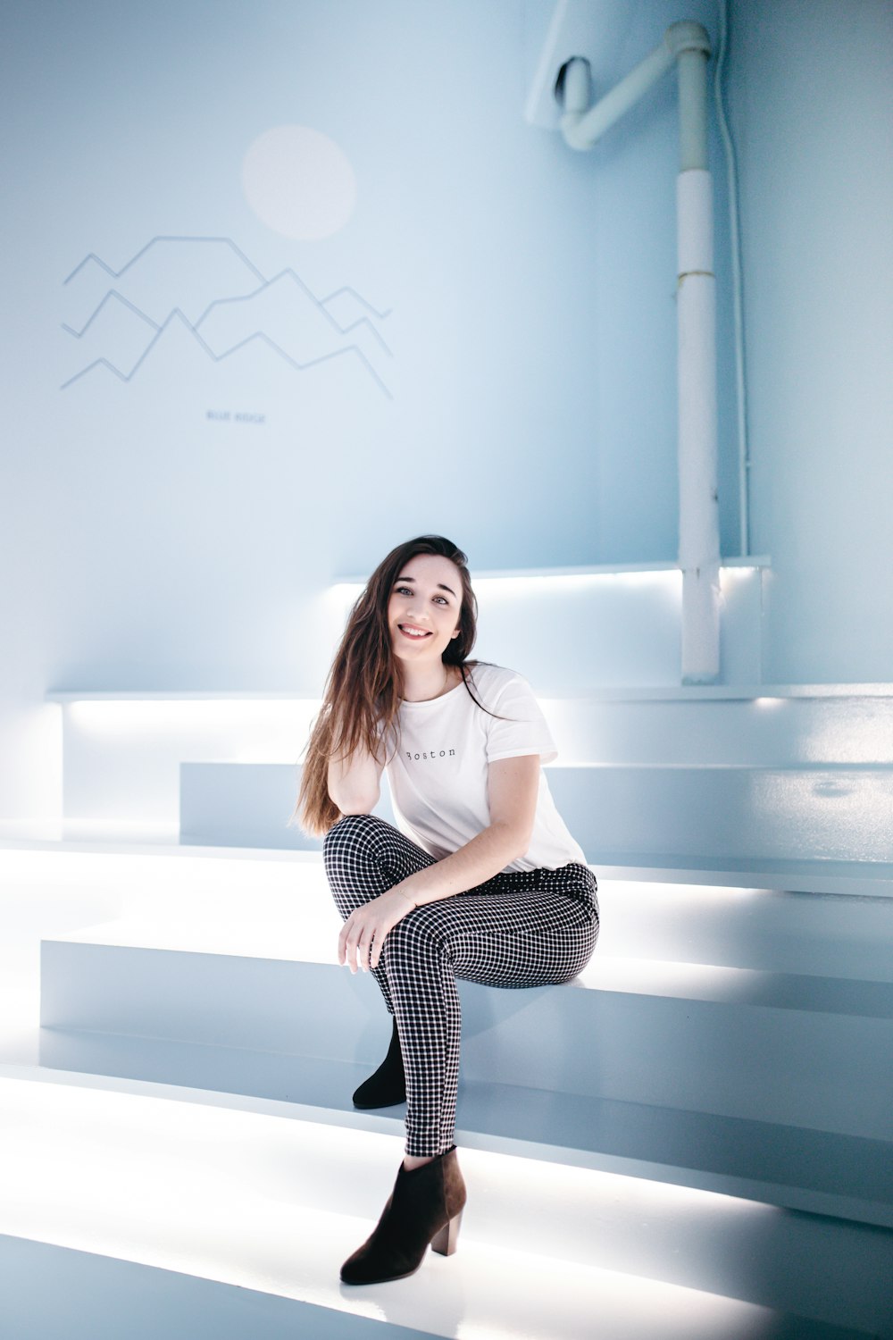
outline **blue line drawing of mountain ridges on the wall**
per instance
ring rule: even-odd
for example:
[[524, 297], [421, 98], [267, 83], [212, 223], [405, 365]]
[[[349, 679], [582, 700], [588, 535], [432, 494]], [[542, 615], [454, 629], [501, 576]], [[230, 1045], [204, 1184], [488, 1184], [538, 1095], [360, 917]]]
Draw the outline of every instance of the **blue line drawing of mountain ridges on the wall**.
[[249, 346], [296, 373], [347, 359], [392, 399], [379, 370], [392, 356], [379, 330], [390, 308], [379, 311], [348, 284], [316, 297], [291, 268], [266, 279], [229, 237], [153, 237], [120, 269], [90, 252], [67, 285], [88, 315], [62, 328], [84, 343], [88, 360], [63, 391], [100, 367], [130, 382], [162, 340], [185, 334], [214, 363]]

